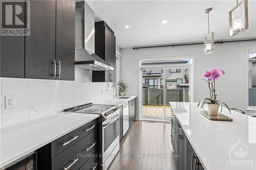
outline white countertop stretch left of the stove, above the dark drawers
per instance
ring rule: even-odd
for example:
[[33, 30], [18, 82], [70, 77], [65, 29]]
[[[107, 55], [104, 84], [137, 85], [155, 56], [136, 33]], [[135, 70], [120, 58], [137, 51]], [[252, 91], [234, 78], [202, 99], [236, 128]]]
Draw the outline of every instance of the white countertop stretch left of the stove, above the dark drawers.
[[97, 117], [99, 117], [98, 114], [61, 112], [0, 129], [0, 167], [39, 149]]

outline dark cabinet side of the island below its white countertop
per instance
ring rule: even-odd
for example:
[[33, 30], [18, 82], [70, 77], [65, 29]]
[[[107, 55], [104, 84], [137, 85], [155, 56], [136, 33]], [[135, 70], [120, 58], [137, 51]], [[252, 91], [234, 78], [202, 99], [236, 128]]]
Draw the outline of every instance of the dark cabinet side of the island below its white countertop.
[[171, 123], [171, 141], [174, 155], [177, 155], [175, 164], [178, 170], [203, 170], [193, 147], [191, 146], [182, 126], [175, 114], [172, 114]]

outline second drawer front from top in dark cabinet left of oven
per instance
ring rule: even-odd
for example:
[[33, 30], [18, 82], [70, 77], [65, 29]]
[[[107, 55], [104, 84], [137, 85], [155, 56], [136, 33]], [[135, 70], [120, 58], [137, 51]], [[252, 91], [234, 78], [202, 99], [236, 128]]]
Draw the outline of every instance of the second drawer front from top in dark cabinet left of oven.
[[62, 170], [68, 167], [69, 170], [80, 169], [92, 156], [98, 154], [99, 140], [97, 137], [98, 131], [94, 131], [54, 158], [52, 160], [52, 169]]

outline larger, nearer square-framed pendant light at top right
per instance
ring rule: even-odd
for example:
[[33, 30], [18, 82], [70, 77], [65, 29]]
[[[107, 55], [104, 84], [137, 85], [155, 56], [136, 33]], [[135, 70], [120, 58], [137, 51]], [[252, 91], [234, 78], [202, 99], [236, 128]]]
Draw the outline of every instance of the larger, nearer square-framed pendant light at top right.
[[229, 37], [237, 35], [248, 27], [248, 1], [242, 0], [229, 11]]

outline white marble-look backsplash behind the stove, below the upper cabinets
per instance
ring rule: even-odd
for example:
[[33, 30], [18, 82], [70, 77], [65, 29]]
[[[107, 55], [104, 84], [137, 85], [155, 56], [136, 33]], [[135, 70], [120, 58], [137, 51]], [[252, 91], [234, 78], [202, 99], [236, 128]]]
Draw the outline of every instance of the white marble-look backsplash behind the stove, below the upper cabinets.
[[[88, 102], [113, 98], [107, 83], [93, 83], [90, 71], [75, 69], [75, 81], [1, 78], [1, 127], [39, 118]], [[5, 96], [15, 107], [5, 109]]]

